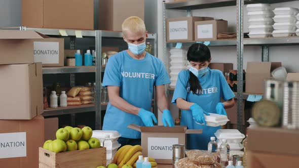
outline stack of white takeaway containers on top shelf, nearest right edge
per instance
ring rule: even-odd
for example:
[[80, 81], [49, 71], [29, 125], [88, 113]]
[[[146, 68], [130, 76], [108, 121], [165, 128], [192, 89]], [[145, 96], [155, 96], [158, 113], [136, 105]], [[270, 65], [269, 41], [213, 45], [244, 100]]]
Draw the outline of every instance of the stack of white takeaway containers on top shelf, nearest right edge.
[[275, 8], [274, 9], [274, 37], [294, 36], [296, 33], [296, 15], [299, 10], [296, 8]]

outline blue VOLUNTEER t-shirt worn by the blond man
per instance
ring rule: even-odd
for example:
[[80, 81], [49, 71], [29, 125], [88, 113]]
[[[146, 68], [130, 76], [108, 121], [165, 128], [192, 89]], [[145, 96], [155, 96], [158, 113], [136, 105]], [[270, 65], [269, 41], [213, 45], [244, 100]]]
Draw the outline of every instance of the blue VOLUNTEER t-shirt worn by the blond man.
[[[162, 61], [146, 53], [142, 60], [122, 51], [109, 58], [102, 86], [120, 87], [120, 97], [133, 106], [151, 111], [154, 86], [170, 83]], [[138, 139], [140, 132], [128, 129], [131, 123], [144, 126], [137, 115], [124, 112], [108, 103], [103, 130], [118, 131], [124, 138]]]

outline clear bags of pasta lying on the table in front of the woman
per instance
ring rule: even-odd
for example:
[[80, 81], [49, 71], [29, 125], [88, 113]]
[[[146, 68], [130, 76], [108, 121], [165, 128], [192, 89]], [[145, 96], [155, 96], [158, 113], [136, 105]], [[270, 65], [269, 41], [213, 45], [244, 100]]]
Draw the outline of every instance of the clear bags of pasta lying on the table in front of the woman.
[[186, 151], [187, 157], [179, 159], [178, 168], [221, 168], [218, 163], [218, 152], [210, 153], [204, 150]]

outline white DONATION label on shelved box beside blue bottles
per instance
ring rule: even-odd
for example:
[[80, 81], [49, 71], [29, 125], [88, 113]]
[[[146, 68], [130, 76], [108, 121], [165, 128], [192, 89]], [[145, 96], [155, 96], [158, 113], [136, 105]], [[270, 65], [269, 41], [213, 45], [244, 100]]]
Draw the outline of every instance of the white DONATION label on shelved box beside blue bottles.
[[59, 42], [34, 41], [34, 62], [59, 64]]

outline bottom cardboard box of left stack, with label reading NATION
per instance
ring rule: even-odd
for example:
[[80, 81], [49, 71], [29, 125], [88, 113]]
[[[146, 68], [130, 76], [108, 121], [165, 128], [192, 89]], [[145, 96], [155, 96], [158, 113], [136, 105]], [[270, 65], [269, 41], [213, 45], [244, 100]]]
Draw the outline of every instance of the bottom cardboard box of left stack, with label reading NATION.
[[1, 167], [38, 168], [44, 131], [41, 115], [31, 120], [0, 120]]

